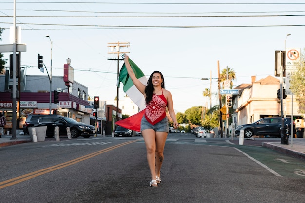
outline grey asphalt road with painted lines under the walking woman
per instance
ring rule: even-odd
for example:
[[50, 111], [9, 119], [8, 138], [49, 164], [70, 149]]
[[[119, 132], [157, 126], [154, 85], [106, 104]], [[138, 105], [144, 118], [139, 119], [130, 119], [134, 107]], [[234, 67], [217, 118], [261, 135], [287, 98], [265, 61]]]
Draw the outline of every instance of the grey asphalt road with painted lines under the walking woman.
[[244, 203], [305, 199], [305, 162], [226, 138], [168, 136], [159, 187], [142, 137], [91, 137], [0, 148], [1, 203]]

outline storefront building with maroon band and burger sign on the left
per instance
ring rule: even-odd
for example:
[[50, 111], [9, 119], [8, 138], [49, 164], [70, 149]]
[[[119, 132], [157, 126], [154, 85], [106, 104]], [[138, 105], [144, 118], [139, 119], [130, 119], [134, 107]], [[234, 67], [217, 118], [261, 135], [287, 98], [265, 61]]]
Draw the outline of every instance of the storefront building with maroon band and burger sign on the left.
[[[49, 77], [24, 75], [21, 72], [17, 85], [17, 128], [23, 127], [29, 114], [57, 114], [90, 124], [92, 108], [87, 101], [87, 87], [77, 82], [70, 84], [71, 86], [65, 84], [62, 76], [52, 76], [50, 103]], [[7, 70], [6, 74], [0, 75], [0, 111], [8, 121], [6, 129], [12, 128], [11, 90], [12, 79]], [[54, 90], [58, 92], [57, 103], [54, 103]]]

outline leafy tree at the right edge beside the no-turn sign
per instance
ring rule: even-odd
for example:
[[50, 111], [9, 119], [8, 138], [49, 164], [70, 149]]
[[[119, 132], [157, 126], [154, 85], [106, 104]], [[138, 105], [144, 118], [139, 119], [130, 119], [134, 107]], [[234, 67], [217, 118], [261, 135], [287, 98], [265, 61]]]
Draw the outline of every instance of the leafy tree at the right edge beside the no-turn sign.
[[[304, 49], [305, 51], [305, 49]], [[297, 67], [297, 74], [291, 77], [291, 91], [299, 105], [299, 112], [305, 114], [305, 56], [301, 56], [301, 63]]]

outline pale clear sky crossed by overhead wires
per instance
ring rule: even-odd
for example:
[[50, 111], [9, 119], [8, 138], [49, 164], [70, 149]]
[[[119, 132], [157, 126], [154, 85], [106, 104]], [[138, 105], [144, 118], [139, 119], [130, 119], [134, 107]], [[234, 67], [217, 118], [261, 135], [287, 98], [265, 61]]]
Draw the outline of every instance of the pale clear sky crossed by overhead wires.
[[[0, 1], [0, 45], [10, 44], [13, 8], [12, 0]], [[117, 55], [108, 43], [128, 42], [121, 51], [130, 52], [147, 77], [163, 73], [177, 112], [206, 105], [202, 92], [210, 87], [212, 105], [219, 104], [218, 61], [220, 71], [235, 71], [238, 86], [251, 76], [274, 76], [276, 50], [305, 47], [302, 0], [17, 0], [16, 15], [28, 75], [47, 75], [37, 68], [37, 54], [50, 68], [51, 39], [52, 75], [62, 76], [70, 58], [74, 80], [90, 97], [114, 100], [118, 64], [109, 60]]]

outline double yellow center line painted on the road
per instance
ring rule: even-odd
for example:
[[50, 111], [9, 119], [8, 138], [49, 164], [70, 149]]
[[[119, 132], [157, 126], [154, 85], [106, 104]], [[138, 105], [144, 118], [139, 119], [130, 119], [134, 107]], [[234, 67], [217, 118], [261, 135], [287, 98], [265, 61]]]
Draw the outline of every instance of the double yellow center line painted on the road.
[[35, 178], [35, 177], [38, 177], [40, 175], [52, 172], [52, 171], [57, 170], [57, 169], [62, 169], [64, 167], [67, 167], [67, 166], [76, 164], [78, 162], [90, 159], [90, 158], [95, 157], [97, 155], [100, 155], [102, 153], [109, 152], [111, 150], [122, 147], [124, 145], [131, 144], [131, 143], [136, 142], [136, 141], [137, 140], [133, 140], [133, 141], [124, 142], [124, 143], [121, 143], [121, 144], [118, 144], [118, 145], [114, 145], [112, 147], [109, 147], [109, 148], [106, 148], [106, 149], [103, 149], [103, 150], [100, 150], [100, 151], [97, 151], [97, 152], [94, 152], [94, 153], [91, 153], [91, 154], [88, 154], [88, 155], [85, 155], [85, 156], [81, 156], [81, 157], [73, 159], [71, 161], [67, 161], [67, 162], [52, 166], [52, 167], [48, 167], [48, 168], [45, 168], [45, 169], [40, 169], [40, 170], [31, 172], [31, 173], [28, 173], [28, 174], [18, 176], [16, 178], [12, 178], [12, 179], [0, 182], [0, 189], [2, 189], [4, 187], [15, 185], [17, 183], [20, 183], [20, 182], [23, 182], [23, 181], [26, 181], [26, 180], [29, 180], [29, 179], [32, 179], [32, 178]]

